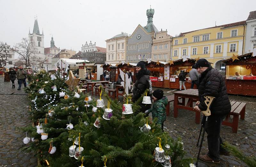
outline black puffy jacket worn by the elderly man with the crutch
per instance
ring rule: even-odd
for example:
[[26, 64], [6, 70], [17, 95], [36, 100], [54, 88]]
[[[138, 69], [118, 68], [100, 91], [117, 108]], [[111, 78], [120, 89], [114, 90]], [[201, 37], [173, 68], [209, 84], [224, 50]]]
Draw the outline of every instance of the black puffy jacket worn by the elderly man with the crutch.
[[227, 94], [225, 79], [220, 72], [210, 66], [201, 73], [199, 78], [198, 95], [200, 110], [205, 111], [207, 106], [204, 103], [204, 96], [215, 97], [211, 105], [212, 115], [227, 115], [231, 111], [231, 104]]

